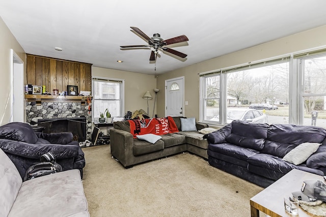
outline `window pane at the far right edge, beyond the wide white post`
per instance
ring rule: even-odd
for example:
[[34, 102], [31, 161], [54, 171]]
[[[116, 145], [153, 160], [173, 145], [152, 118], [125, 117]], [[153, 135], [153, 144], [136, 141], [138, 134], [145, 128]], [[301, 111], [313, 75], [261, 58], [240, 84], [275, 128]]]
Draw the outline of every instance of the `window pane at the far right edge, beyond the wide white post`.
[[326, 128], [326, 55], [301, 58], [302, 125]]

